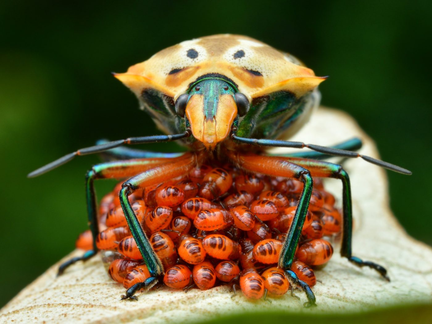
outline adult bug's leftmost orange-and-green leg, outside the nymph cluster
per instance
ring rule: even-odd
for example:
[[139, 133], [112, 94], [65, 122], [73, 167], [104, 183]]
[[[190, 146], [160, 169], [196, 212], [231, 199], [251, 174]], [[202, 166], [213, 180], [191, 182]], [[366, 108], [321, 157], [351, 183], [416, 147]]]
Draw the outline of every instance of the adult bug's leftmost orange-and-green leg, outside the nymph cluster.
[[134, 174], [148, 170], [156, 165], [169, 162], [171, 159], [155, 158], [155, 159], [140, 159], [140, 160], [124, 160], [115, 162], [106, 162], [96, 164], [86, 174], [86, 200], [87, 200], [87, 217], [89, 227], [93, 237], [93, 249], [84, 253], [81, 257], [71, 258], [60, 265], [57, 275], [63, 274], [67, 267], [78, 262], [86, 261], [95, 255], [98, 251], [96, 246], [96, 237], [99, 234], [98, 213], [96, 204], [96, 195], [94, 188], [95, 179], [113, 179], [125, 178]]

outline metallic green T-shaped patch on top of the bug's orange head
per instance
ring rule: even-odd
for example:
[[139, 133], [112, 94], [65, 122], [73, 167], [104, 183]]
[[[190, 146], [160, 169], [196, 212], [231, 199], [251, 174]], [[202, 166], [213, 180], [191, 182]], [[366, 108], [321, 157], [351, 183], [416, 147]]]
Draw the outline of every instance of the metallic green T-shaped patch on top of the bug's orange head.
[[[198, 89], [198, 90], [197, 90]], [[191, 88], [189, 98], [198, 94], [204, 97], [204, 113], [206, 120], [212, 120], [216, 116], [219, 104], [219, 96], [230, 94], [234, 96], [235, 89], [228, 82], [221, 79], [205, 79]]]

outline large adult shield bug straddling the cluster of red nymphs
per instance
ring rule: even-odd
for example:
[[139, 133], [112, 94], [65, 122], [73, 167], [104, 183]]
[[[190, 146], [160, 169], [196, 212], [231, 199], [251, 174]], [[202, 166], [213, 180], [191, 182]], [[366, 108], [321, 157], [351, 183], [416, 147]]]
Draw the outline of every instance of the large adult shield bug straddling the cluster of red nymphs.
[[[99, 230], [94, 180], [128, 178], [119, 193], [120, 204], [149, 276], [129, 288], [125, 298], [133, 298], [136, 289], [154, 286], [163, 272], [162, 263], [135, 217], [128, 196], [137, 190], [189, 174], [206, 160], [212, 159], [229, 162], [247, 173], [285, 177], [303, 183], [292, 226], [282, 244], [278, 266], [293, 285], [301, 286], [305, 291], [308, 298], [306, 306], [315, 305], [314, 294], [307, 283], [299, 280], [291, 266], [308, 212], [312, 177], [336, 178], [343, 183], [342, 256], [359, 267], [371, 267], [387, 278], [384, 267], [352, 255], [349, 176], [342, 166], [323, 162], [319, 158], [328, 155], [361, 157], [399, 173], [410, 174], [410, 171], [350, 151], [359, 144], [356, 140], [327, 148], [280, 139], [294, 134], [308, 120], [319, 103], [317, 87], [325, 77], [315, 76], [311, 69], [290, 54], [239, 35], [214, 35], [184, 41], [131, 66], [126, 73], [114, 76], [137, 95], [141, 108], [167, 135], [102, 142], [67, 154], [29, 176], [48, 172], [77, 155], [110, 150], [108, 154], [119, 158], [97, 164], [88, 171], [86, 197], [90, 229], [93, 238], [96, 238]], [[185, 154], [161, 154], [118, 148], [124, 144], [168, 141], [181, 142], [190, 151]], [[314, 155], [315, 160], [308, 159], [310, 154], [307, 153], [295, 157], [289, 154], [267, 156], [265, 147], [310, 148], [318, 153]], [[229, 182], [223, 174], [217, 181], [210, 180], [207, 184], [209, 192], [226, 190], [225, 182]], [[76, 261], [91, 258], [97, 250], [94, 245], [83, 257], [66, 262], [60, 267], [60, 273]]]

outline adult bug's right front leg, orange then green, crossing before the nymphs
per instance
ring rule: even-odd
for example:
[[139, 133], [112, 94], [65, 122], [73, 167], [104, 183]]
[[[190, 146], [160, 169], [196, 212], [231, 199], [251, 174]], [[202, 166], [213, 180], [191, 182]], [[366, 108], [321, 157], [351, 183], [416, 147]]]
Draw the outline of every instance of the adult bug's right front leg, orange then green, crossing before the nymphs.
[[286, 233], [285, 242], [283, 242], [282, 250], [280, 252], [278, 266], [285, 270], [286, 277], [293, 285], [300, 286], [306, 293], [308, 302], [305, 302], [305, 307], [316, 305], [315, 296], [311, 288], [307, 283], [299, 280], [297, 275], [290, 270], [294, 259], [295, 249], [299, 244], [299, 239], [302, 234], [302, 227], [305, 222], [306, 213], [308, 212], [309, 200], [311, 199], [313, 186], [311, 173], [304, 167], [289, 162], [283, 157], [267, 157], [251, 154], [246, 155], [233, 151], [227, 151], [227, 155], [235, 164], [244, 170], [266, 174], [268, 176], [297, 179], [303, 182], [303, 192], [300, 196], [299, 204], [297, 205], [292, 220], [292, 225], [289, 228], [288, 233]]

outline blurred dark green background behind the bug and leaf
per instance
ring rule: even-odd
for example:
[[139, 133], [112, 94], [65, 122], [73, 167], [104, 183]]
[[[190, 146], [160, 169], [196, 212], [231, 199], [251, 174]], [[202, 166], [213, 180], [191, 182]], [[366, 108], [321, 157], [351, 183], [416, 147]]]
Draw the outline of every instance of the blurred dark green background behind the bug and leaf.
[[[431, 9], [428, 1], [3, 1], [0, 306], [73, 249], [86, 229], [84, 174], [98, 157], [26, 174], [98, 138], [157, 134], [110, 72], [216, 33], [249, 35], [330, 75], [322, 103], [353, 115], [384, 160], [413, 171], [388, 173], [391, 208], [408, 233], [432, 244]], [[99, 197], [111, 185], [98, 183]]]

